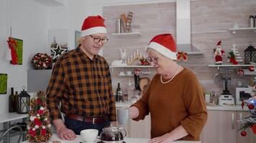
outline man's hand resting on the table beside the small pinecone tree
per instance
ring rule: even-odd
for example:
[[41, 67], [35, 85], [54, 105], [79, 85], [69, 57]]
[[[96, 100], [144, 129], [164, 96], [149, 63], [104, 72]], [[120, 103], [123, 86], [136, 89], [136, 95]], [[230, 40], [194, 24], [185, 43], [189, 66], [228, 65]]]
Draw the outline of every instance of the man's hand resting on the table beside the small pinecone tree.
[[76, 139], [76, 134], [71, 129], [68, 129], [67, 127], [65, 127], [65, 125], [63, 127], [60, 127], [57, 130], [57, 134], [58, 134], [58, 137], [60, 137], [60, 139], [65, 139], [65, 140]]

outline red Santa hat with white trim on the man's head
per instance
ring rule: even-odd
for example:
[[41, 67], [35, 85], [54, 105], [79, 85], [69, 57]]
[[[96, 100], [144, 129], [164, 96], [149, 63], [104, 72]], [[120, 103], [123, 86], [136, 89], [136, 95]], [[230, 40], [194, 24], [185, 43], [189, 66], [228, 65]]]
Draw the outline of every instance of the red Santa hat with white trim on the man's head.
[[101, 16], [88, 16], [84, 19], [81, 36], [99, 33], [106, 34], [106, 26], [104, 25], [104, 19]]

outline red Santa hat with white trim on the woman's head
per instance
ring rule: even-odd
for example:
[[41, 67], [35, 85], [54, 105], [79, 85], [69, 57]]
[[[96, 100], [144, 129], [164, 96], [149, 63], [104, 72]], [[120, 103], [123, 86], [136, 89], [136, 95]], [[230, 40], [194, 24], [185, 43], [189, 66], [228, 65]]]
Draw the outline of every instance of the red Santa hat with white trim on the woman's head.
[[171, 34], [160, 34], [155, 36], [150, 44], [147, 46], [147, 49], [154, 49], [155, 51], [163, 54], [169, 59], [176, 60], [176, 45]]

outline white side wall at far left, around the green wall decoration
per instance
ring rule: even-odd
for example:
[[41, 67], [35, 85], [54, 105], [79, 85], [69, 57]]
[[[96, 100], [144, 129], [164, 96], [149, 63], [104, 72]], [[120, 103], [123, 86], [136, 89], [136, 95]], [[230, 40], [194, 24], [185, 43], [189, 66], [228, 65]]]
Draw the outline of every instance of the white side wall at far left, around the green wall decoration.
[[[23, 39], [23, 64], [12, 65], [4, 59], [10, 36]], [[0, 94], [0, 114], [8, 112], [10, 88], [21, 91], [27, 87], [27, 69], [30, 59], [37, 52], [50, 54], [48, 46], [49, 8], [34, 0], [0, 1], [0, 73], [8, 74], [7, 94]], [[36, 82], [36, 81], [35, 81]]]

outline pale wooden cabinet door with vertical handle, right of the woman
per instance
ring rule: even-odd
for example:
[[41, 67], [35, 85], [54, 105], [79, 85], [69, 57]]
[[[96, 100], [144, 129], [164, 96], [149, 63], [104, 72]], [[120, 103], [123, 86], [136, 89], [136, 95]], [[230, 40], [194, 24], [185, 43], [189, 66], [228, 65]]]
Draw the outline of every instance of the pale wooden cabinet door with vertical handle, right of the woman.
[[202, 143], [236, 143], [237, 112], [210, 111], [201, 134]]

